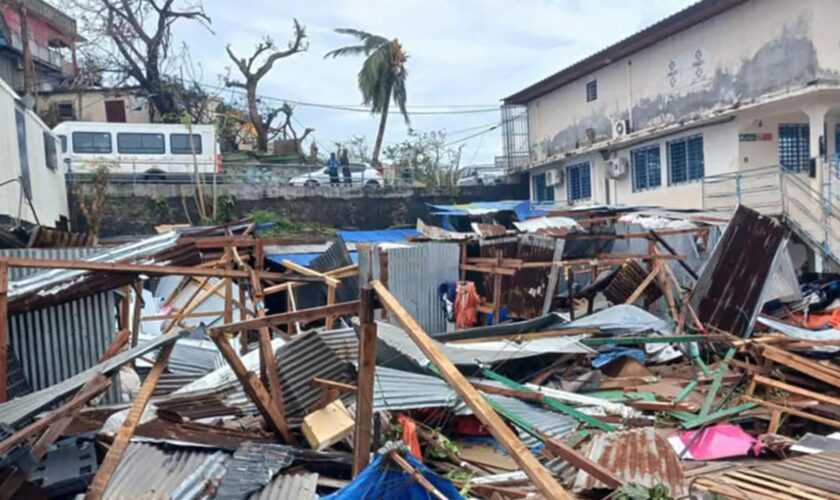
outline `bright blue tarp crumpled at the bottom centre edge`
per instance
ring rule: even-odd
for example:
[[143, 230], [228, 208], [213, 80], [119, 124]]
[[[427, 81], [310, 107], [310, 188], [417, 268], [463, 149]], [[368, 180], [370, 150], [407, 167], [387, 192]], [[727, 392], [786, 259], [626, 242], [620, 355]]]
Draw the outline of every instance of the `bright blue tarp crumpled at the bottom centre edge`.
[[[423, 477], [428, 479], [446, 498], [464, 498], [458, 493], [455, 485], [429, 470], [428, 467], [417, 461], [413, 455], [408, 453], [404, 456], [408, 463], [423, 474]], [[321, 498], [329, 500], [355, 500], [363, 498], [427, 500], [431, 498], [431, 495], [414, 478], [391, 463], [386, 456], [380, 455], [370, 465], [365, 467], [352, 483], [332, 495]]]

